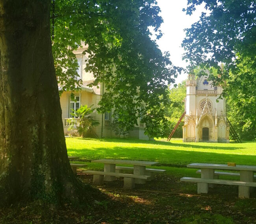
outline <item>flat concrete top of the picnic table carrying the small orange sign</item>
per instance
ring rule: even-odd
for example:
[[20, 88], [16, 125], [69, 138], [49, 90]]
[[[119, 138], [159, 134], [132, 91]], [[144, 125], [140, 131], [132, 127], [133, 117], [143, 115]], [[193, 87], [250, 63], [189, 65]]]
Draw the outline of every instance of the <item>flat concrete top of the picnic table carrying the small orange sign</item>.
[[256, 171], [256, 166], [249, 166], [249, 165], [236, 165], [235, 167], [232, 167], [232, 166], [228, 166], [227, 164], [191, 163], [187, 165], [187, 167]]

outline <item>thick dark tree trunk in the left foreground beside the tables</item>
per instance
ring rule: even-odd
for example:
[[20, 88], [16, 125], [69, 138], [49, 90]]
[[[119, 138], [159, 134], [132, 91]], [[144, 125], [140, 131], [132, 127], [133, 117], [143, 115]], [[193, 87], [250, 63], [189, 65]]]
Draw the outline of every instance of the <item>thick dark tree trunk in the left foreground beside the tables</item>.
[[76, 200], [50, 39], [50, 0], [0, 0], [0, 203]]

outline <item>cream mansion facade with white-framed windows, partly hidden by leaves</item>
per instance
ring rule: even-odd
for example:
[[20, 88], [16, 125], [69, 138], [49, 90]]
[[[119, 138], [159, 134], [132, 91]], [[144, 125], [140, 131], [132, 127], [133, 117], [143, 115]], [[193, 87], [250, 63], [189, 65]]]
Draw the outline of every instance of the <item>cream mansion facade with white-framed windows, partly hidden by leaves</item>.
[[[84, 70], [86, 66], [85, 59], [87, 58], [86, 55], [83, 54], [85, 47], [86, 46], [83, 46], [83, 48], [78, 48], [76, 51], [74, 51], [79, 66], [77, 72], [80, 79], [83, 81], [82, 88], [80, 91], [72, 92], [74, 94], [74, 98], [71, 98], [70, 91], [63, 92], [60, 97], [62, 121], [65, 135], [74, 133], [74, 130], [68, 130], [70, 125], [69, 119], [72, 118], [70, 113], [72, 113], [73, 110], [77, 110], [82, 105], [87, 105], [89, 107], [93, 105], [94, 108], [98, 107], [98, 103], [102, 98], [102, 94], [104, 93], [104, 85], [102, 83], [98, 83], [98, 86], [93, 86], [92, 88], [88, 87], [88, 84], [92, 83], [95, 78], [93, 73], [88, 73]], [[60, 86], [59, 90], [61, 90]], [[93, 127], [93, 133], [88, 132], [88, 137], [95, 137], [95, 135], [98, 138], [115, 136], [115, 132], [111, 130], [111, 123], [113, 121], [111, 113], [98, 114], [95, 112], [93, 116], [95, 116], [95, 119], [100, 122], [100, 125]], [[134, 129], [129, 132], [128, 137], [148, 140], [148, 136], [145, 136], [144, 134], [145, 124], [140, 123], [140, 119], [138, 119], [137, 122], [138, 126], [135, 126]]]

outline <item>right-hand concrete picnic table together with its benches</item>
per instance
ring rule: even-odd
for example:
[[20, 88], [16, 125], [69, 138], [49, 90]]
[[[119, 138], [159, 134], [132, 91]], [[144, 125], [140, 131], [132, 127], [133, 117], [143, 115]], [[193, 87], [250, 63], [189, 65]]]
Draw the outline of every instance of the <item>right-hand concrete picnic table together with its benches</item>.
[[[228, 166], [226, 164], [191, 163], [187, 165], [187, 167], [201, 169], [200, 171], [201, 178], [188, 178], [188, 177], [181, 178], [181, 181], [197, 182], [198, 193], [208, 193], [209, 184], [238, 185], [239, 197], [249, 198], [250, 187], [256, 187], [256, 183], [253, 182], [253, 178], [254, 178], [253, 173], [256, 172], [256, 166], [251, 166], [251, 165]], [[240, 181], [216, 180], [215, 169], [239, 171]], [[226, 174], [225, 172], [218, 172], [218, 173]], [[234, 175], [234, 176], [238, 176], [238, 175]]]

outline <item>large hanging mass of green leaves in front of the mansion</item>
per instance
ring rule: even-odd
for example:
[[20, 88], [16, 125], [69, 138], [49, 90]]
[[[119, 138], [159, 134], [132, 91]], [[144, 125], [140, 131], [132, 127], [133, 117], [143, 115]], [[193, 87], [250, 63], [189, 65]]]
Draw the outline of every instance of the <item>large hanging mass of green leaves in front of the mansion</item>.
[[[167, 84], [174, 81], [172, 76], [176, 77], [180, 69], [172, 65], [169, 53], [162, 54], [149, 37], [149, 26], [154, 27], [158, 38], [162, 35], [156, 0], [56, 0], [55, 12], [53, 51], [63, 91], [75, 90], [81, 84], [76, 79], [77, 62], [72, 51], [82, 40], [87, 45], [85, 70], [95, 76], [91, 86], [104, 83], [106, 90], [98, 112], [123, 107], [126, 111], [117, 112], [118, 119], [132, 114], [132, 126], [137, 123], [142, 104], [147, 117], [152, 116], [148, 110], [167, 102]], [[151, 120], [147, 119], [147, 125], [155, 125]]]

